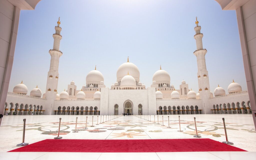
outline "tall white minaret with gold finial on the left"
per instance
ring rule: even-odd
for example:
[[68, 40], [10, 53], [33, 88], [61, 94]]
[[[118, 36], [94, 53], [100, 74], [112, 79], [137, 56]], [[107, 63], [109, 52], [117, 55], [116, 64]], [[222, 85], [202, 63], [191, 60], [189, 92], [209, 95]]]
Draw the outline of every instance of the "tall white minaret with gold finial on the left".
[[57, 94], [57, 87], [58, 87], [58, 79], [59, 79], [59, 58], [62, 55], [62, 52], [59, 50], [60, 48], [60, 40], [62, 36], [60, 35], [61, 27], [60, 27], [60, 17], [59, 21], [57, 22], [57, 26], [55, 26], [55, 34], [52, 35], [54, 38], [53, 49], [49, 50], [49, 54], [51, 55], [51, 63], [50, 63], [50, 70], [48, 72], [47, 83], [46, 83], [46, 91], [45, 91], [45, 98], [46, 98], [46, 114], [51, 115], [54, 113], [54, 105], [55, 105], [55, 98]]

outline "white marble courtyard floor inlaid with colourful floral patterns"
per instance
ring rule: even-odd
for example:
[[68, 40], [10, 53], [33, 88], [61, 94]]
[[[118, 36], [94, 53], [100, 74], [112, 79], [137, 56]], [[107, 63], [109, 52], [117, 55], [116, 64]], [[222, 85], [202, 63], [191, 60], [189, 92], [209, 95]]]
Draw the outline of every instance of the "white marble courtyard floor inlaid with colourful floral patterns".
[[[70, 159], [81, 156], [87, 159], [240, 159], [256, 157], [256, 132], [252, 115], [180, 115], [181, 130], [179, 130], [178, 115], [157, 115], [148, 117], [150, 121], [136, 116], [120, 116], [110, 120], [104, 116], [104, 123], [100, 123], [99, 116], [87, 115], [20, 115], [4, 116], [0, 126], [0, 158], [1, 159]], [[168, 116], [169, 125], [168, 126]], [[76, 117], [78, 117], [77, 131], [73, 133]], [[35, 143], [57, 136], [59, 118], [61, 120], [60, 135], [63, 139], [168, 139], [194, 138], [194, 117], [197, 121], [198, 134], [202, 138], [210, 138], [219, 142], [225, 141], [222, 118], [225, 118], [227, 134], [235, 147], [250, 152], [160, 152], [160, 153], [58, 153], [58, 152], [7, 152], [16, 149], [16, 144], [22, 142], [23, 119], [26, 118], [26, 143]], [[147, 116], [146, 116], [147, 119]], [[164, 123], [164, 126], [162, 124]], [[164, 144], [163, 144], [164, 145]]]

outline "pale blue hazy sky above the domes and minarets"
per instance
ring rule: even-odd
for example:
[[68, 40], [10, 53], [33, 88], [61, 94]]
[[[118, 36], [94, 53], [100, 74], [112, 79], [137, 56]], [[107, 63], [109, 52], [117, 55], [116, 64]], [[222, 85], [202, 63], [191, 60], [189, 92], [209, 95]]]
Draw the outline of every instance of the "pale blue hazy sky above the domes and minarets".
[[185, 80], [198, 92], [196, 16], [208, 51], [210, 90], [219, 84], [228, 93], [233, 79], [247, 90], [236, 12], [221, 10], [214, 0], [42, 0], [35, 10], [20, 12], [9, 91], [23, 80], [28, 94], [37, 85], [45, 92], [48, 51], [60, 17], [59, 93], [72, 80], [82, 88], [95, 65], [110, 88], [127, 56], [146, 87], [161, 65], [175, 88]]

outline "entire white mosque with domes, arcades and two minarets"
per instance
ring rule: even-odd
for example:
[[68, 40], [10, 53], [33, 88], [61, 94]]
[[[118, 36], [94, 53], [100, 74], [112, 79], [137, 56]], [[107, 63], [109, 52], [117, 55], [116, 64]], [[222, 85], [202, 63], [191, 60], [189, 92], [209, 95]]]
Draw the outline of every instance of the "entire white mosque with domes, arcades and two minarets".
[[176, 88], [170, 83], [167, 71], [160, 69], [152, 78], [152, 85], [146, 87], [140, 82], [138, 67], [129, 61], [119, 66], [116, 82], [111, 87], [104, 85], [103, 74], [95, 69], [86, 76], [86, 85], [77, 88], [72, 81], [67, 90], [57, 93], [59, 80], [60, 19], [53, 34], [53, 49], [50, 70], [47, 77], [46, 91], [42, 94], [36, 87], [30, 91], [21, 82], [8, 92], [4, 114], [9, 115], [118, 115], [122, 113], [155, 115], [155, 114], [251, 114], [248, 91], [234, 82], [228, 86], [228, 94], [218, 86], [214, 93], [210, 91], [209, 76], [206, 69], [205, 55], [200, 32], [201, 26], [196, 19], [194, 38], [198, 66], [198, 93], [189, 89], [183, 80]]

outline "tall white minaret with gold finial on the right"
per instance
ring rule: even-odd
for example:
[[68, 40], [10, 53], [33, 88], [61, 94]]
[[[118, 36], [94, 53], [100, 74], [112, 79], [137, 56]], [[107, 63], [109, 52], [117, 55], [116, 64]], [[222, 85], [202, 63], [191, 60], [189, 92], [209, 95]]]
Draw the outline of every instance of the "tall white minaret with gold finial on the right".
[[205, 55], [207, 50], [203, 48], [202, 38], [203, 34], [200, 32], [201, 26], [198, 26], [198, 21], [196, 17], [196, 27], [194, 28], [196, 34], [194, 38], [196, 39], [196, 51], [194, 51], [194, 55], [197, 58], [197, 78], [198, 78], [198, 88], [200, 93], [200, 99], [202, 100], [202, 109], [204, 109], [204, 113], [210, 113], [210, 84], [209, 84], [209, 77], [208, 71], [206, 70], [206, 63], [205, 63]]

